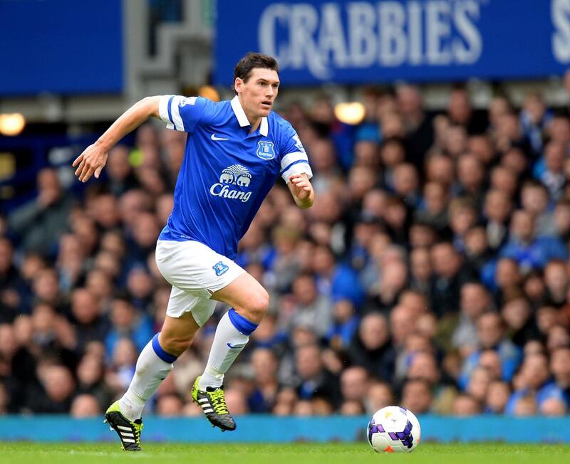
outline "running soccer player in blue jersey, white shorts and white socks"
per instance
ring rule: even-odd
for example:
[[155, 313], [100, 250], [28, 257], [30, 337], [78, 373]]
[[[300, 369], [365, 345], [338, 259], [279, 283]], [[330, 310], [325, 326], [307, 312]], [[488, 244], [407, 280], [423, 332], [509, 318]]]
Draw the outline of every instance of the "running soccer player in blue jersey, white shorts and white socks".
[[124, 450], [140, 450], [145, 401], [190, 347], [216, 301], [232, 308], [219, 321], [206, 368], [191, 395], [212, 426], [236, 428], [224, 399], [224, 374], [269, 305], [266, 290], [232, 260], [237, 243], [277, 176], [286, 181], [300, 208], [314, 201], [311, 167], [299, 136], [271, 112], [279, 91], [278, 72], [274, 58], [249, 53], [234, 69], [232, 100], [146, 97], [73, 162], [80, 181], [93, 174], [98, 178], [113, 145], [151, 116], [169, 129], [188, 133], [174, 209], [155, 252], [160, 272], [172, 284], [167, 316], [160, 333], [142, 349], [128, 390], [105, 413]]

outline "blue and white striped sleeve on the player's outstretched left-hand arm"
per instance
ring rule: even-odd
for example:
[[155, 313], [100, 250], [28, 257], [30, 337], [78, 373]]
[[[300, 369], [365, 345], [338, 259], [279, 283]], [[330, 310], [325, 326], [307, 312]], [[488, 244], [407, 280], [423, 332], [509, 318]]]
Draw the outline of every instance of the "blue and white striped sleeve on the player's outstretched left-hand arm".
[[204, 97], [162, 95], [158, 104], [160, 119], [168, 129], [193, 132], [197, 122], [213, 102]]

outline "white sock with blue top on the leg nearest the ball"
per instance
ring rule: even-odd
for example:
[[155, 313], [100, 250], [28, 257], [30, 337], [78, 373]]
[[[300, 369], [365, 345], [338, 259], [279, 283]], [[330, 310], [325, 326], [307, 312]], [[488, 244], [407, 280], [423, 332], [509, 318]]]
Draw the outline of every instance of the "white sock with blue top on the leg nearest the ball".
[[200, 390], [205, 390], [208, 386], [222, 386], [224, 374], [244, 349], [249, 334], [256, 328], [257, 324], [249, 322], [233, 308], [222, 316], [214, 335], [206, 369], [198, 381]]

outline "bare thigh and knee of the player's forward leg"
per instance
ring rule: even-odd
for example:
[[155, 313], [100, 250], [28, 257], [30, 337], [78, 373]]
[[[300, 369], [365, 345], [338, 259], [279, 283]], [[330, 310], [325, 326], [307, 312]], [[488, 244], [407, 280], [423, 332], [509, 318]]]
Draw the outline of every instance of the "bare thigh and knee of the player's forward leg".
[[249, 273], [243, 273], [224, 288], [217, 290], [212, 299], [234, 307], [253, 322], [259, 322], [269, 306], [269, 295]]

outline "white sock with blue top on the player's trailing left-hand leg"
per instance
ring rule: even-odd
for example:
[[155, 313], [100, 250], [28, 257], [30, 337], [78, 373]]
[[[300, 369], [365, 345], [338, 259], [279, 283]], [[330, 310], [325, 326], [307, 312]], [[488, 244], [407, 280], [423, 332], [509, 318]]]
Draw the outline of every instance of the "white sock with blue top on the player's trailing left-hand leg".
[[[158, 334], [140, 352], [135, 376], [130, 381], [128, 390], [125, 391], [125, 394], [119, 400], [120, 411], [129, 421], [140, 419], [146, 401], [157, 390], [168, 373], [172, 371], [172, 367], [174, 367], [172, 362], [166, 362], [158, 356], [156, 349], [161, 351], [162, 348], [160, 348], [160, 345], [157, 347], [157, 344]], [[170, 356], [176, 359], [172, 354], [169, 355], [164, 350], [160, 354], [162, 357]], [[168, 359], [172, 360], [172, 358]]]

